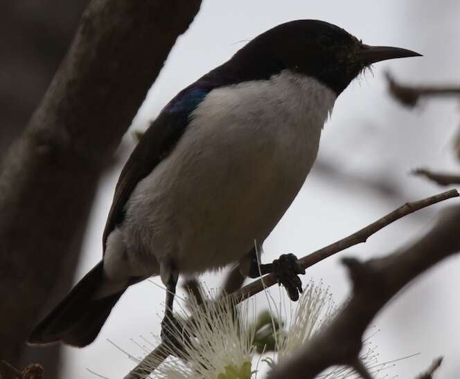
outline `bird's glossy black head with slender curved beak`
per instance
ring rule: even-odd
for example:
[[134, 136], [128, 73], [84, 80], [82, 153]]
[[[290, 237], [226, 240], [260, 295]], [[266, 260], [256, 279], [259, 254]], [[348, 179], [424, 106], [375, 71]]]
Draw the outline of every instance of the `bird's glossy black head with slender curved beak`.
[[362, 44], [342, 28], [324, 21], [297, 20], [267, 30], [231, 61], [245, 62], [242, 69], [248, 78], [261, 79], [290, 69], [317, 78], [339, 94], [367, 66], [417, 55], [403, 48]]

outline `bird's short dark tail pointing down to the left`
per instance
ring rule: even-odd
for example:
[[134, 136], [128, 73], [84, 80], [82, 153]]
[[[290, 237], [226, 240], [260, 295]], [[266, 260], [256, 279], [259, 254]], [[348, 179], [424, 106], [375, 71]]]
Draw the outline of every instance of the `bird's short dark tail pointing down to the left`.
[[101, 299], [94, 294], [103, 284], [103, 262], [100, 261], [83, 277], [28, 338], [30, 344], [62, 341], [73, 346], [87, 346], [102, 329], [110, 311], [125, 290]]

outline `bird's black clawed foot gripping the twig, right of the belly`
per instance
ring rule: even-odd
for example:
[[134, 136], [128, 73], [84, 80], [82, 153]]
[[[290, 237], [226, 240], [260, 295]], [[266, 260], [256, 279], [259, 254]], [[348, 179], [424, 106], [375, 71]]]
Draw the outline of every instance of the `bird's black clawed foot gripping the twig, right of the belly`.
[[305, 274], [305, 269], [300, 265], [299, 259], [294, 254], [283, 254], [275, 259], [272, 265], [272, 272], [278, 285], [283, 284], [290, 299], [297, 302], [299, 293], [302, 293], [302, 282], [298, 275]]

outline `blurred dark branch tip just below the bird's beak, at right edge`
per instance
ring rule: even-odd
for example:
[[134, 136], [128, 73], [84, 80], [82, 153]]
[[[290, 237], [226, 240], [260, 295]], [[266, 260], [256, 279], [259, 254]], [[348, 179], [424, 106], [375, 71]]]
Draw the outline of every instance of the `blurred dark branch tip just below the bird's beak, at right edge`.
[[458, 97], [460, 95], [460, 86], [404, 86], [396, 82], [389, 72], [385, 73], [385, 76], [391, 95], [406, 107], [415, 107], [421, 97]]

